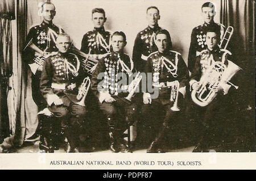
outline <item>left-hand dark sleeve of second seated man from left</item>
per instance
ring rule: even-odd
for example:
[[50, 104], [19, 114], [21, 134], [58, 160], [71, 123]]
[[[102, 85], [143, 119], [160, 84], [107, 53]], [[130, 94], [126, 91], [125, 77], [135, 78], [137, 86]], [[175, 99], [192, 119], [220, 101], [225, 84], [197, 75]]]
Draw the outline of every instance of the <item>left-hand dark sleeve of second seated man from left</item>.
[[[98, 65], [96, 69], [94, 70], [94, 73], [92, 75], [92, 85], [91, 85], [91, 90], [94, 95], [98, 96], [99, 91], [103, 89], [102, 85], [100, 85], [100, 82], [104, 80], [104, 77], [101, 79], [98, 79], [98, 74], [104, 73], [105, 72], [105, 61], [104, 58], [101, 58], [100, 61], [98, 62]], [[99, 87], [99, 89], [98, 89]]]

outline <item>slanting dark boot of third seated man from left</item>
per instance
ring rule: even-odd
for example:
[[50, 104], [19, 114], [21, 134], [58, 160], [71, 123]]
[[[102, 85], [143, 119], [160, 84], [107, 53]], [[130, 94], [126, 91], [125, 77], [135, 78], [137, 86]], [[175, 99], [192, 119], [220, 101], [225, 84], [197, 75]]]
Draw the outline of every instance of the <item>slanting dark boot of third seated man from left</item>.
[[155, 140], [152, 141], [150, 147], [147, 149], [147, 153], [164, 153], [162, 149], [164, 143], [164, 136], [166, 136], [167, 125], [163, 124], [162, 128], [159, 131], [159, 134], [155, 137]]

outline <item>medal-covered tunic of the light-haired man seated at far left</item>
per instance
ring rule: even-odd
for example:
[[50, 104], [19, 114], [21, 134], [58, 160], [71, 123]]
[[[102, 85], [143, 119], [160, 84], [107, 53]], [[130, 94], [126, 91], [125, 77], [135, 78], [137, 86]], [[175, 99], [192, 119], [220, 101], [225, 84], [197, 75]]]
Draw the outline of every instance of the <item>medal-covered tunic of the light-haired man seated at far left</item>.
[[49, 106], [52, 104], [52, 99], [49, 99], [52, 94], [63, 99], [64, 106], [69, 106], [71, 102], [79, 102], [76, 98], [77, 88], [83, 78], [84, 72], [75, 54], [56, 52], [46, 59], [43, 66], [40, 90]]

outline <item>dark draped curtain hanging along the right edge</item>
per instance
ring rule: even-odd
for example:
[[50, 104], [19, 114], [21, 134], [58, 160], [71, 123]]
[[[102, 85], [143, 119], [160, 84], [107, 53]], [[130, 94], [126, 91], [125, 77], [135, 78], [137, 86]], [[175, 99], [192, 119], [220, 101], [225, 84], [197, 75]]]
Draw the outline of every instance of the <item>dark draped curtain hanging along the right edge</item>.
[[[234, 96], [234, 122], [238, 124], [243, 142], [255, 142], [255, 2], [251, 0], [221, 0], [220, 22], [234, 28], [229, 48], [232, 61], [243, 70], [239, 72], [239, 89]], [[237, 112], [236, 112], [237, 111]], [[247, 148], [249, 145], [245, 145]]]

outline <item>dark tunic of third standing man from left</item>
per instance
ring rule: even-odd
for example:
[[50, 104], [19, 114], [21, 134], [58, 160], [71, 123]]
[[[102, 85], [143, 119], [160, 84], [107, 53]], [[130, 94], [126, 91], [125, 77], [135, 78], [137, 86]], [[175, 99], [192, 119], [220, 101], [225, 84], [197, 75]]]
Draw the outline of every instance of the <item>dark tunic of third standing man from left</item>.
[[[163, 29], [159, 26], [156, 26], [155, 28], [151, 28], [148, 26], [147, 28], [138, 33], [133, 47], [134, 66], [138, 71], [142, 72], [144, 70], [148, 55], [158, 50], [155, 45], [155, 35], [160, 30]], [[172, 47], [171, 41], [170, 47]]]

